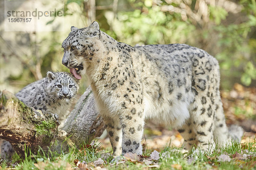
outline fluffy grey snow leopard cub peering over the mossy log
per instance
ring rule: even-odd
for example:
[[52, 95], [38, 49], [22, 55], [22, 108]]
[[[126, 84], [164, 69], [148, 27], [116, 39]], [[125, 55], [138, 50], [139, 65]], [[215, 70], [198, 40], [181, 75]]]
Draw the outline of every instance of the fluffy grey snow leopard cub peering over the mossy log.
[[[78, 90], [79, 79], [73, 77], [72, 74], [48, 71], [47, 77], [27, 85], [16, 96], [27, 106], [36, 110], [58, 114], [62, 125]], [[13, 153], [12, 145], [8, 141], [0, 139], [1, 157], [9, 159]]]

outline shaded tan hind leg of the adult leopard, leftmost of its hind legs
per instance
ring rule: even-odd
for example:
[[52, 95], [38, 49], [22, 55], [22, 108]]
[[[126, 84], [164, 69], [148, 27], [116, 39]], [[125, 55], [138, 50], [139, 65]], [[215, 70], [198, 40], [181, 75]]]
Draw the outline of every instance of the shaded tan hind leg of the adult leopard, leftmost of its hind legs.
[[186, 150], [191, 150], [194, 144], [197, 144], [196, 134], [192, 127], [191, 119], [189, 118], [186, 123], [178, 129], [180, 135], [184, 138], [183, 147]]

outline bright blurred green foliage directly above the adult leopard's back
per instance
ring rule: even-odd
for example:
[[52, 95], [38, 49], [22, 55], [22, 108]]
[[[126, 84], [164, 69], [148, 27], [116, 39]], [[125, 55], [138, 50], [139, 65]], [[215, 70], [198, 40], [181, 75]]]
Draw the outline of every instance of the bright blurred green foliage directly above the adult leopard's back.
[[[159, 6], [117, 14], [113, 31], [119, 41], [135, 44], [169, 44], [186, 41], [195, 26], [182, 22], [179, 14], [169, 14], [161, 11]], [[118, 27], [115, 28], [115, 25]], [[118, 28], [118, 29], [117, 29]]]

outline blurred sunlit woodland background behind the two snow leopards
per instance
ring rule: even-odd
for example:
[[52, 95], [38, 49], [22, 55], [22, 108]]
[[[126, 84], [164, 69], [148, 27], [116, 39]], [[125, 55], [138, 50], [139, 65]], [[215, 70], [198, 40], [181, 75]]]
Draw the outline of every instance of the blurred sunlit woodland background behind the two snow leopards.
[[[0, 0], [1, 91], [16, 93], [50, 70], [69, 71], [61, 64], [61, 43], [71, 26], [84, 28], [96, 20], [102, 31], [129, 45], [186, 43], [216, 57], [227, 124], [256, 132], [255, 0], [64, 0], [64, 22], [57, 25], [64, 31], [55, 31], [55, 17], [45, 23], [52, 31], [32, 32], [5, 31], [4, 2]], [[15, 8], [22, 10], [26, 3]], [[83, 77], [79, 94], [86, 88]], [[147, 126], [145, 135], [169, 133], [154, 122]]]

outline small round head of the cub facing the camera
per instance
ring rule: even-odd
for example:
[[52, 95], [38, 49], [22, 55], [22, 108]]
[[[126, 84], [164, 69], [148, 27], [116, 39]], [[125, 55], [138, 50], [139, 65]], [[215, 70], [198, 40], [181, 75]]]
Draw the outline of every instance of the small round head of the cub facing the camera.
[[64, 99], [67, 102], [76, 96], [79, 80], [67, 72], [47, 72], [47, 89], [53, 94], [53, 101]]

